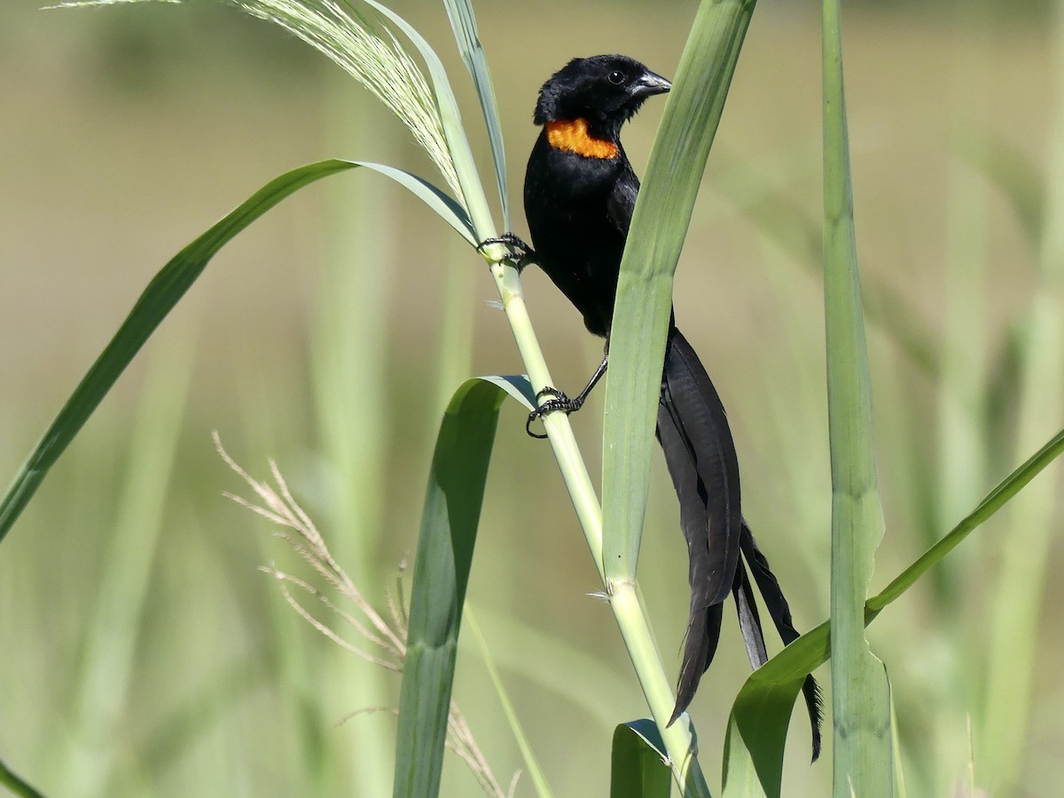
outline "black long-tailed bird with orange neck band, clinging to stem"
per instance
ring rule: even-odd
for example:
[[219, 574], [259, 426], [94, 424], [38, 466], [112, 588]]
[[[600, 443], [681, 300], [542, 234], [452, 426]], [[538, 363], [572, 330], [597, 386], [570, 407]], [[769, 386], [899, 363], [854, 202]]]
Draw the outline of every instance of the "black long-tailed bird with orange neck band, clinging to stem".
[[[520, 250], [514, 255], [519, 267], [538, 264], [583, 315], [587, 330], [606, 338], [606, 351], [579, 396], [569, 399], [553, 388], [541, 392], [541, 398], [555, 398], [544, 402], [530, 423], [545, 413], [579, 410], [605, 372], [617, 276], [639, 190], [620, 129], [646, 98], [670, 87], [633, 59], [596, 55], [570, 61], [539, 92], [533, 118], [543, 131], [525, 176], [525, 215], [535, 249], [512, 234], [493, 240]], [[720, 398], [672, 319], [667, 340], [656, 432], [680, 500], [691, 560], [691, 620], [671, 724], [691, 703], [713, 660], [729, 593], [735, 596], [751, 666], [767, 660], [750, 575], [784, 644], [798, 632], [779, 582], [743, 518], [738, 461]], [[820, 699], [812, 676], [802, 692], [815, 760], [820, 751]]]

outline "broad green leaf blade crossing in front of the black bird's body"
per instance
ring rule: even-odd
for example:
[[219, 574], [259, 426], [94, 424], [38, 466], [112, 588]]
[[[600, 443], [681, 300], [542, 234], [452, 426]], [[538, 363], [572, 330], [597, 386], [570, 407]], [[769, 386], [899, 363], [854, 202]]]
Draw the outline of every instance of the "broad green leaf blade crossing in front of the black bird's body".
[[747, 0], [699, 7], [632, 217], [610, 335], [603, 432], [602, 560], [612, 579], [635, 575], [672, 276], [753, 7]]

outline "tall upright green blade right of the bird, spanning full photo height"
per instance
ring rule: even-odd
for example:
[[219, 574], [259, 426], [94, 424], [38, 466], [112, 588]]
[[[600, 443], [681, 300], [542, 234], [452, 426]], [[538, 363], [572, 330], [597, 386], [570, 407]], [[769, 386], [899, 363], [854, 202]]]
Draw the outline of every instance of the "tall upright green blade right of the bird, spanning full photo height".
[[893, 794], [890, 686], [864, 636], [883, 535], [853, 227], [838, 0], [824, 2], [824, 303], [831, 443], [831, 686], [834, 794]]

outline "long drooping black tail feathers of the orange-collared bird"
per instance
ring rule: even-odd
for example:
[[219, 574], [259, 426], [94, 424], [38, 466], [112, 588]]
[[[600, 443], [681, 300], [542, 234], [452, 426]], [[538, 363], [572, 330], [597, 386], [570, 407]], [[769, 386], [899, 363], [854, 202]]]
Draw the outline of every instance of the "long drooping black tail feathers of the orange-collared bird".
[[[750, 665], [768, 659], [746, 559], [784, 644], [798, 636], [779, 582], [743, 518], [738, 460], [728, 416], [695, 350], [675, 327], [669, 331], [658, 406], [658, 439], [680, 499], [680, 526], [687, 541], [691, 619], [669, 724], [687, 709], [713, 661], [724, 601], [735, 596], [739, 629]], [[803, 685], [813, 726], [813, 759], [820, 752], [820, 701], [810, 676]]]

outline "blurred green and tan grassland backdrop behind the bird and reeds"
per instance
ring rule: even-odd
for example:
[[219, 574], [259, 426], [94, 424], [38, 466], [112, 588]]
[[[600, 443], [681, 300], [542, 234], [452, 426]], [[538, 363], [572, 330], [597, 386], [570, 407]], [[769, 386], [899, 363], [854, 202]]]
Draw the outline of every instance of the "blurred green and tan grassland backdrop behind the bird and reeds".
[[[12, 476], [151, 276], [267, 180], [330, 156], [436, 180], [350, 79], [232, 9], [36, 6], [0, 5], [0, 472]], [[443, 7], [393, 7], [448, 65], [487, 179]], [[476, 7], [519, 209], [543, 80], [573, 55], [613, 51], [671, 74], [696, 3]], [[1017, 379], [1034, 298], [1061, 299], [1045, 266], [1060, 221], [1043, 216], [1044, 176], [1064, 147], [1064, 43], [1049, 11], [858, 4], [844, 18], [887, 521], [874, 588], [1064, 420], [1064, 408], [1024, 411]], [[817, 10], [765, 0], [676, 299], [730, 412], [744, 510], [802, 629], [826, 617], [829, 591], [819, 59]], [[660, 111], [650, 103], [628, 129], [637, 165]], [[300, 566], [221, 497], [243, 485], [211, 431], [256, 476], [278, 462], [383, 609], [416, 544], [450, 392], [521, 368], [483, 262], [453, 238], [396, 186], [355, 172], [284, 202], [215, 259], [0, 550], [9, 765], [64, 796], [390, 793], [395, 718], [351, 714], [395, 706], [398, 679], [315, 632], [256, 570]], [[530, 270], [525, 285], [555, 379], [582, 385], [600, 343], [546, 278]], [[1064, 363], [1064, 348], [1040, 355]], [[575, 419], [593, 473], [601, 400]], [[1017, 444], [1017, 428], [1033, 439]], [[1003, 513], [869, 631], [894, 684], [911, 795], [966, 788], [972, 751], [975, 783], [995, 795], [1051, 795], [1064, 776], [1059, 472], [1032, 489], [1050, 510], [1024, 562], [1005, 552], [1018, 527], [1032, 530]], [[670, 672], [688, 597], [677, 516], [655, 462], [641, 580]], [[1010, 616], [1003, 571], [1041, 615]], [[610, 613], [587, 595], [599, 588], [548, 446], [505, 409], [469, 601], [560, 796], [604, 795], [612, 728], [645, 713]], [[1035, 647], [1031, 668], [1016, 663], [1014, 695], [1004, 682], [1013, 726], [985, 709], [988, 674], [1008, 674], [1014, 648], [995, 622]], [[693, 706], [711, 784], [747, 674], [735, 627], [729, 613]], [[520, 757], [488, 684], [464, 635], [455, 699], [506, 784]], [[827, 794], [830, 765], [808, 757], [795, 722], [785, 795]], [[445, 794], [475, 791], [449, 759]], [[525, 779], [517, 795], [530, 794]]]

